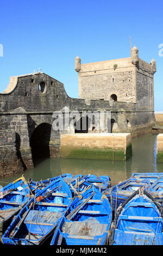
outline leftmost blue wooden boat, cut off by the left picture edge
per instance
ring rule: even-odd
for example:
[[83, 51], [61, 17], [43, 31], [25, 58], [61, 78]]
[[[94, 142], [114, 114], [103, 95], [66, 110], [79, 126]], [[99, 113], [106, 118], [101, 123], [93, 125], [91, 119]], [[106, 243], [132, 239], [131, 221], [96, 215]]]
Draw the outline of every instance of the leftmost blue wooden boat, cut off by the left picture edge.
[[32, 196], [24, 176], [11, 182], [0, 190], [0, 236]]

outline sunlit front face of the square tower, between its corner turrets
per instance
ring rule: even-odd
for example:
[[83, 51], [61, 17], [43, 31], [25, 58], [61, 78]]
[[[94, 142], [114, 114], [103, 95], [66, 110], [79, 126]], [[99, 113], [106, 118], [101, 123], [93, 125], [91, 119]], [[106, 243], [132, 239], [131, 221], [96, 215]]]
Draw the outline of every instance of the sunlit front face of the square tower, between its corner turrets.
[[82, 64], [78, 77], [81, 99], [110, 100], [116, 94], [117, 101], [136, 102], [135, 66], [130, 58]]

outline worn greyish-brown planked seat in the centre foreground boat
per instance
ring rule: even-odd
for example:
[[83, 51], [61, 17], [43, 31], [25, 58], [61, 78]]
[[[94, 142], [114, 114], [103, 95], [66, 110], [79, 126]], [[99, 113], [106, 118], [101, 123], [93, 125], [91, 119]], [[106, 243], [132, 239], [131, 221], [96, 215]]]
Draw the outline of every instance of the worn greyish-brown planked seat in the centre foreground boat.
[[[74, 221], [74, 222], [65, 222], [62, 226], [62, 233], [68, 234], [68, 237], [78, 239], [79, 236], [98, 236], [103, 235], [106, 231], [107, 224], [102, 224], [99, 222], [83, 222], [83, 221]], [[81, 237], [80, 237], [81, 238]], [[86, 238], [85, 238], [86, 239]], [[90, 238], [87, 238], [90, 239]]]

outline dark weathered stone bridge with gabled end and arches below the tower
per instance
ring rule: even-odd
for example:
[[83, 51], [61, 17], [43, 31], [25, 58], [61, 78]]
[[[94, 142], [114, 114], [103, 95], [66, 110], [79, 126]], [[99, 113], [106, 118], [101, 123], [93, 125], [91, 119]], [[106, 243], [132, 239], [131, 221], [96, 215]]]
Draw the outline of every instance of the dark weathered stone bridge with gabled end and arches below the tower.
[[[65, 108], [66, 107], [66, 108]], [[69, 97], [64, 84], [42, 72], [10, 77], [0, 94], [0, 176], [11, 175], [35, 166], [37, 157], [60, 156], [60, 134], [75, 133], [53, 129], [53, 113], [110, 112], [111, 132], [131, 132], [132, 136], [152, 130], [154, 111], [136, 103], [85, 100]], [[70, 119], [72, 121], [73, 118]], [[85, 131], [94, 132], [95, 126]], [[107, 129], [98, 132], [108, 132]]]

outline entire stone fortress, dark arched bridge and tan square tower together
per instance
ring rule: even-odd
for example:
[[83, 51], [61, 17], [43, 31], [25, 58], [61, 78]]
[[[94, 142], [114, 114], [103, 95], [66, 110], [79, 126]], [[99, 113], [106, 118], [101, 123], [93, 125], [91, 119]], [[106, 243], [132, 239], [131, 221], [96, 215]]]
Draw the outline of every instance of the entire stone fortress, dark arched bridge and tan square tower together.
[[[0, 94], [0, 177], [33, 167], [37, 157], [60, 157], [61, 133], [52, 129], [54, 111], [110, 111], [111, 132], [137, 136], [152, 131], [156, 62], [139, 58], [136, 47], [124, 59], [81, 64], [75, 59], [79, 99], [43, 72], [10, 77]], [[62, 111], [64, 115], [64, 111]], [[87, 125], [87, 133], [93, 127]], [[101, 133], [107, 131], [99, 131]]]

